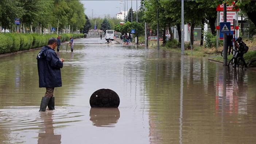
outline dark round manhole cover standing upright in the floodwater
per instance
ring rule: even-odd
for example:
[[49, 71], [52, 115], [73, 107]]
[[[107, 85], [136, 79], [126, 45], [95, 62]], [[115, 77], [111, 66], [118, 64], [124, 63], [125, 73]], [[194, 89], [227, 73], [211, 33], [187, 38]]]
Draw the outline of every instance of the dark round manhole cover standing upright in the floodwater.
[[119, 104], [120, 99], [118, 94], [110, 89], [99, 89], [90, 97], [90, 106], [92, 108], [118, 108]]

